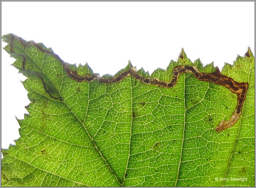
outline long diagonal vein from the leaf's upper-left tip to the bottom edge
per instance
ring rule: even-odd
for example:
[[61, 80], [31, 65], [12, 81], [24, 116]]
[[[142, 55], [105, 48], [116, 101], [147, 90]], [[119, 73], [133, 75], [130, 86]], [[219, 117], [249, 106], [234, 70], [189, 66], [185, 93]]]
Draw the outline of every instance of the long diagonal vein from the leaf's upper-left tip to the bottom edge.
[[[12, 43], [13, 43], [13, 44], [16, 44], [15, 42], [12, 42]], [[22, 45], [22, 44], [21, 44], [21, 45]], [[18, 46], [18, 48], [20, 48], [20, 49], [37, 65], [37, 63], [33, 60], [33, 58], [30, 57], [29, 54], [26, 53], [26, 51], [25, 51], [24, 49], [22, 49], [18, 44], [16, 44], [16, 46]], [[22, 46], [23, 46], [23, 45], [22, 45]], [[25, 47], [25, 48], [26, 48], [26, 47]], [[36, 46], [34, 46], [34, 48], [36, 48]], [[36, 49], [37, 49], [37, 48], [36, 48]], [[18, 53], [14, 52], [14, 54], [18, 54]], [[42, 71], [42, 73], [48, 78], [48, 76], [45, 74], [44, 70], [43, 70], [39, 65], [37, 65], [37, 66], [40, 68], [40, 70]], [[64, 76], [64, 74], [63, 74], [63, 76]], [[52, 83], [52, 81], [51, 81], [50, 79], [49, 79], [49, 81]], [[52, 83], [52, 85], [53, 85], [54, 88], [58, 91], [59, 95], [60, 95], [61, 98], [63, 99], [63, 102], [66, 104], [66, 106], [70, 109], [70, 111], [74, 114], [74, 116], [78, 119], [78, 121], [79, 121], [79, 122], [81, 123], [81, 125], [84, 127], [84, 129], [85, 129], [86, 133], [88, 134], [89, 138], [91, 139], [91, 142], [93, 143], [93, 145], [94, 145], [96, 151], [100, 154], [101, 158], [103, 159], [103, 161], [105, 162], [105, 164], [107, 165], [107, 167], [109, 168], [109, 170], [111, 171], [111, 173], [114, 175], [114, 177], [116, 178], [116, 180], [118, 181], [118, 183], [119, 183], [120, 185], [122, 185], [122, 183], [118, 180], [116, 173], [113, 171], [113, 169], [110, 167], [110, 165], [107, 163], [106, 159], [104, 158], [104, 156], [103, 156], [102, 153], [100, 152], [100, 150], [99, 150], [99, 148], [97, 147], [96, 143], [94, 142], [94, 140], [93, 140], [91, 134], [87, 131], [86, 127], [84, 126], [84, 123], [80, 120], [80, 118], [78, 118], [78, 117], [76, 116], [76, 114], [73, 112], [73, 110], [68, 106], [68, 104], [65, 102], [65, 99], [64, 99], [63, 96], [61, 95], [60, 91], [55, 87], [55, 85], [54, 85], [53, 83]], [[61, 84], [61, 85], [62, 85], [62, 84]], [[87, 108], [88, 108], [88, 106], [87, 106]]]

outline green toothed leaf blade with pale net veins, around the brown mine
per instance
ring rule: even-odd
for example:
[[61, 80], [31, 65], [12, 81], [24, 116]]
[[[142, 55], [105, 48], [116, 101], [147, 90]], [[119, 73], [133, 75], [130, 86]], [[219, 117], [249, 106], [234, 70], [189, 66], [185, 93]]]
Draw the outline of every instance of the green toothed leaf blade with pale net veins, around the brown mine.
[[[250, 49], [222, 69], [249, 88], [239, 120], [216, 132], [231, 118], [238, 94], [191, 73], [180, 74], [172, 88], [152, 84], [168, 83], [182, 65], [217, 72], [213, 64], [192, 63], [183, 50], [166, 70], [138, 70], [146, 84], [135, 73], [122, 76], [135, 70], [130, 62], [115, 77], [100, 78], [87, 64], [63, 62], [42, 43], [14, 34], [2, 39], [17, 59], [13, 65], [28, 78], [23, 85], [31, 101], [29, 115], [18, 120], [16, 146], [2, 149], [2, 186], [254, 186]], [[102, 83], [104, 78], [113, 83]]]

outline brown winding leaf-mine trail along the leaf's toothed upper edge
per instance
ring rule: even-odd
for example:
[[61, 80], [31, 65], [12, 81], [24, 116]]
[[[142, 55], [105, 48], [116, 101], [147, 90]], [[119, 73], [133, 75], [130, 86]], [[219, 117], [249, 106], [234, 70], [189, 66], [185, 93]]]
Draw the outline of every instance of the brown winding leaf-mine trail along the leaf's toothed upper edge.
[[[223, 74], [221, 74], [219, 68], [216, 69], [215, 72], [212, 73], [203, 73], [200, 72], [197, 68], [197, 66], [177, 66], [173, 69], [173, 78], [170, 82], [165, 82], [165, 81], [161, 81], [157, 78], [148, 78], [148, 77], [144, 77], [143, 75], [140, 75], [137, 73], [136, 69], [134, 67], [129, 68], [128, 70], [121, 72], [119, 75], [115, 76], [115, 77], [111, 77], [111, 78], [102, 78], [99, 76], [99, 74], [93, 74], [92, 76], [90, 76], [89, 74], [86, 75], [77, 75], [76, 71], [72, 71], [70, 69], [70, 67], [68, 66], [68, 63], [64, 62], [62, 59], [59, 58], [59, 56], [57, 54], [55, 54], [54, 52], [48, 50], [48, 49], [43, 49], [39, 44], [35, 43], [34, 41], [24, 41], [22, 38], [16, 36], [16, 35], [12, 35], [11, 37], [11, 41], [10, 41], [10, 52], [17, 54], [19, 56], [22, 57], [22, 68], [25, 69], [25, 64], [26, 64], [26, 58], [24, 55], [22, 54], [18, 54], [16, 52], [14, 52], [13, 50], [13, 40], [17, 38], [20, 43], [23, 46], [27, 46], [28, 44], [33, 44], [34, 46], [36, 46], [36, 48], [38, 48], [39, 50], [41, 50], [44, 53], [53, 55], [55, 58], [57, 58], [63, 65], [63, 68], [65, 69], [67, 75], [73, 79], [76, 80], [77, 82], [91, 82], [93, 80], [97, 80], [99, 83], [103, 83], [103, 84], [110, 84], [110, 83], [117, 83], [122, 81], [125, 77], [128, 76], [133, 76], [136, 80], [144, 83], [144, 84], [151, 84], [151, 85], [155, 85], [158, 87], [163, 87], [163, 88], [172, 88], [175, 86], [175, 84], [177, 83], [177, 80], [179, 79], [179, 75], [182, 73], [191, 73], [193, 76], [195, 76], [198, 80], [200, 81], [206, 81], [206, 82], [210, 82], [213, 84], [218, 84], [221, 86], [224, 86], [226, 88], [228, 88], [231, 92], [236, 93], [237, 94], [237, 105], [236, 105], [236, 109], [233, 112], [231, 118], [227, 121], [221, 121], [216, 127], [215, 130], [217, 132], [221, 132], [224, 129], [227, 129], [229, 127], [232, 127], [239, 119], [240, 115], [241, 115], [241, 110], [242, 110], [242, 106], [244, 104], [245, 98], [246, 98], [246, 93], [247, 93], [247, 89], [248, 89], [248, 83], [244, 83], [244, 82], [236, 82], [234, 81], [231, 77], [225, 76]], [[248, 53], [246, 54], [246, 56], [250, 56]], [[182, 56], [180, 56], [180, 58], [183, 58]], [[45, 83], [43, 81], [43, 77], [38, 75], [44, 85], [45, 91], [54, 99], [61, 99], [61, 97], [53, 97], [50, 92], [46, 89]]]

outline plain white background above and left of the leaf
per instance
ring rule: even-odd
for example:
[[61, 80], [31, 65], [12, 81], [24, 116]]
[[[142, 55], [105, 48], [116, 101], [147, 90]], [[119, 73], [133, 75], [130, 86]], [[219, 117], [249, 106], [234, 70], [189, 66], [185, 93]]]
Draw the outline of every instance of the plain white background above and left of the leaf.
[[[128, 60], [150, 73], [177, 60], [181, 48], [191, 61], [222, 68], [255, 55], [255, 2], [1, 2], [1, 35], [14, 33], [43, 42], [68, 63], [87, 62], [95, 73], [115, 74]], [[1, 43], [2, 47], [6, 43]], [[18, 139], [30, 101], [1, 50], [1, 147]]]

